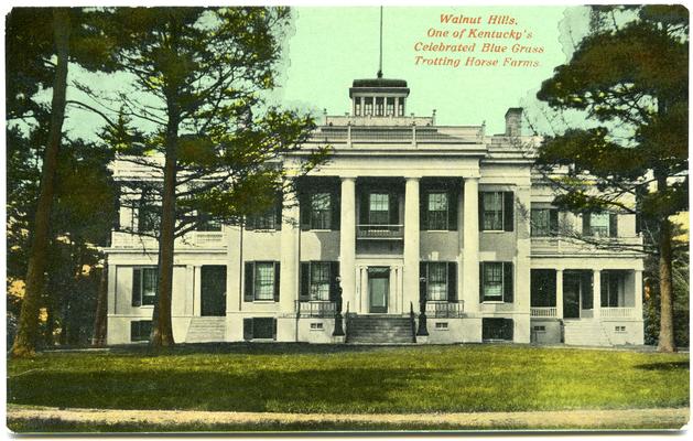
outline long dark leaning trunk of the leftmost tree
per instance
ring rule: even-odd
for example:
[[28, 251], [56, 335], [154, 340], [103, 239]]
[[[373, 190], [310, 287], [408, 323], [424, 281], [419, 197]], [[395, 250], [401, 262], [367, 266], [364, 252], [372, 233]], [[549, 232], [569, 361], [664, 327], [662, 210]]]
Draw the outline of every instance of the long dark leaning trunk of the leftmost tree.
[[46, 144], [41, 190], [36, 203], [34, 232], [32, 236], [29, 266], [26, 269], [25, 292], [19, 329], [10, 355], [13, 357], [32, 356], [36, 348], [39, 331], [39, 304], [44, 286], [48, 232], [53, 194], [55, 191], [55, 172], [65, 119], [65, 94], [67, 89], [67, 61], [69, 56], [69, 11], [66, 8], [53, 10], [53, 35], [56, 49], [55, 79], [51, 101], [51, 127]]

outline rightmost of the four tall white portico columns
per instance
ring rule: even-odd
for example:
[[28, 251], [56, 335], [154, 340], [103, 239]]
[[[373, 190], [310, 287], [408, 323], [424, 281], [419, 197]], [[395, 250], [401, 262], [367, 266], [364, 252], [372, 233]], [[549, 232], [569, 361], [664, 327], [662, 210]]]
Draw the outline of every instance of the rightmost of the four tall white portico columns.
[[479, 311], [479, 179], [464, 183], [463, 300], [465, 311]]

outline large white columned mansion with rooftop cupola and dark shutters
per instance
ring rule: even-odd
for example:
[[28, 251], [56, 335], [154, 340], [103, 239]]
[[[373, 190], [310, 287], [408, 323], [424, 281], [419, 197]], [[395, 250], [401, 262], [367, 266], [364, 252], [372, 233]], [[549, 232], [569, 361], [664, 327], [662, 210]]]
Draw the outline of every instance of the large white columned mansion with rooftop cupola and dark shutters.
[[[405, 116], [409, 92], [355, 80], [351, 115], [326, 116], [303, 146], [334, 153], [301, 180], [299, 204], [176, 243], [175, 341], [642, 344], [642, 258], [556, 234], [637, 245], [635, 216], [552, 207], [518, 147], [538, 142], [521, 136], [521, 109], [487, 135]], [[144, 172], [113, 164], [116, 180]], [[121, 225], [140, 220], [121, 207]], [[109, 344], [148, 338], [156, 251], [112, 233]]]

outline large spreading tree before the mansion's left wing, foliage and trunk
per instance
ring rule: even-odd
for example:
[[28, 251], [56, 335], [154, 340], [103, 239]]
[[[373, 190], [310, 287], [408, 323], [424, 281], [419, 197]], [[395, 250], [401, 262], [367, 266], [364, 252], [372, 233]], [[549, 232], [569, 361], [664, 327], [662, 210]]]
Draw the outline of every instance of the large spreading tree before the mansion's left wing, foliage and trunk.
[[[120, 160], [152, 171], [152, 180], [123, 185], [121, 196], [126, 204], [137, 200], [139, 226], [148, 224], [132, 229], [159, 239], [151, 344], [171, 346], [175, 239], [210, 220], [239, 223], [267, 209], [291, 182], [281, 159], [314, 123], [262, 99], [274, 87], [286, 8], [122, 8], [106, 14], [117, 23], [104, 26], [106, 37], [119, 68], [133, 78], [132, 90], [110, 100], [83, 90], [105, 107], [119, 105], [118, 118], [104, 114], [106, 138]], [[324, 154], [316, 151], [299, 171]], [[145, 195], [158, 216], [147, 211]]]

